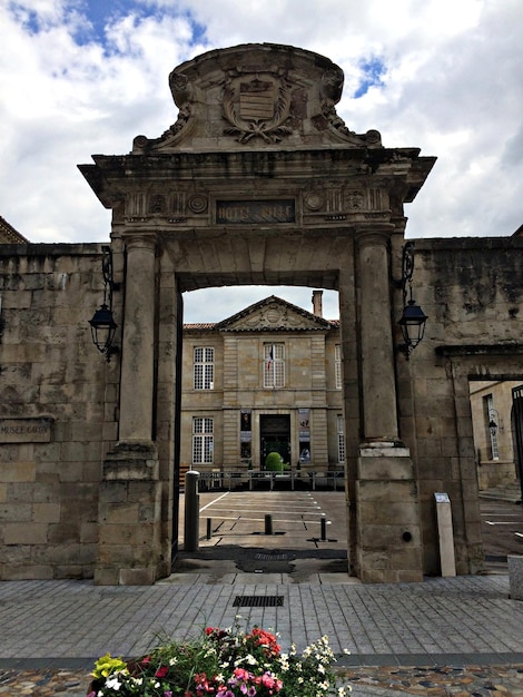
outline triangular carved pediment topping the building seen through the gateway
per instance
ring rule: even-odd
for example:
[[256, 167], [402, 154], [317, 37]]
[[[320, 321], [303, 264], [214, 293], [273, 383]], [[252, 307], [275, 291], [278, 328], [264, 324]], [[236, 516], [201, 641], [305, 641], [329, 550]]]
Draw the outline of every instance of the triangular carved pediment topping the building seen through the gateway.
[[220, 332], [328, 331], [332, 324], [275, 295], [219, 322]]

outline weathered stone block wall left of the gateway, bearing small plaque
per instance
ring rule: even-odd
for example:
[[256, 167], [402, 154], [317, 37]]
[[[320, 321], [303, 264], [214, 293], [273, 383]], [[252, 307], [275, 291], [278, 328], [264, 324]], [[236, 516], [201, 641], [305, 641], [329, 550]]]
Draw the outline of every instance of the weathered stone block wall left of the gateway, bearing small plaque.
[[0, 245], [0, 580], [89, 578], [117, 435], [116, 364], [88, 325], [101, 247]]

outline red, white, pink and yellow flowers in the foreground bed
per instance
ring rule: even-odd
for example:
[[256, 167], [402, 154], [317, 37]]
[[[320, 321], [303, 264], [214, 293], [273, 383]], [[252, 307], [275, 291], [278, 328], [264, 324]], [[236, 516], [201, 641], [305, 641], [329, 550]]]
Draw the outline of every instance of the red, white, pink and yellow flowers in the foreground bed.
[[102, 656], [88, 697], [342, 697], [351, 688], [336, 686], [335, 660], [325, 636], [298, 655], [259, 627], [208, 627], [193, 641], [162, 638], [137, 660]]

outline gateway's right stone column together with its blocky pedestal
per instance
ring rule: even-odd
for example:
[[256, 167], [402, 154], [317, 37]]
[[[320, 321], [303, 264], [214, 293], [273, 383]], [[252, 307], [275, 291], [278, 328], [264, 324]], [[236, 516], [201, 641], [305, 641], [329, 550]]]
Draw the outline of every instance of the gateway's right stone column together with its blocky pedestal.
[[423, 580], [415, 467], [398, 439], [387, 232], [357, 236], [361, 393], [356, 498], [357, 576], [364, 582]]

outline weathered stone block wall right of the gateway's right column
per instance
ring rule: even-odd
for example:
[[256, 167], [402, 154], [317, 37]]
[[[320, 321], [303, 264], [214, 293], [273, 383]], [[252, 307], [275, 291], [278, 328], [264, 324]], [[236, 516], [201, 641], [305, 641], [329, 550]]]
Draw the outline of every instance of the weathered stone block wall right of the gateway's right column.
[[451, 499], [457, 573], [474, 573], [483, 550], [470, 381], [523, 375], [523, 239], [416, 240], [413, 295], [428, 321], [409, 362], [398, 359], [398, 401], [417, 467], [424, 568], [440, 573], [441, 491]]

